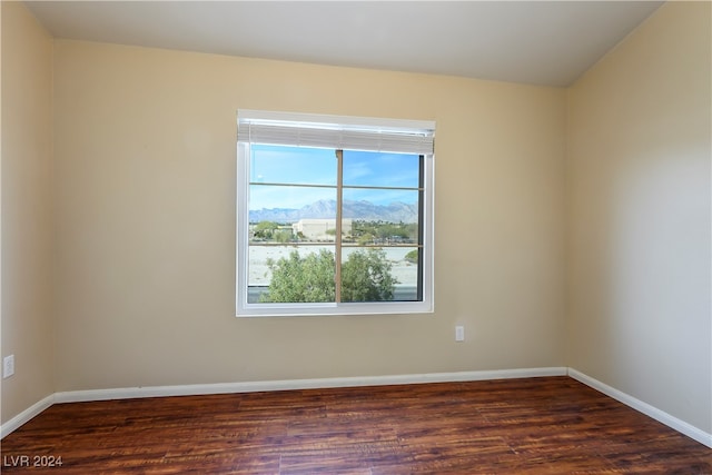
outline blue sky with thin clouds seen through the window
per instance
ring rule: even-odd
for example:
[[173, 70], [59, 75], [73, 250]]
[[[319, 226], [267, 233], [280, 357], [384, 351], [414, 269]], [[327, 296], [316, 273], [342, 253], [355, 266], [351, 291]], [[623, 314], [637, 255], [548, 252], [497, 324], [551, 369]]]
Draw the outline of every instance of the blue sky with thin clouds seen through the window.
[[[336, 186], [337, 160], [333, 149], [253, 146], [253, 184]], [[344, 185], [417, 188], [416, 155], [344, 151]], [[336, 199], [332, 188], [250, 186], [250, 209], [301, 208], [319, 199]], [[376, 205], [415, 202], [417, 192], [403, 190], [344, 190], [344, 199]]]

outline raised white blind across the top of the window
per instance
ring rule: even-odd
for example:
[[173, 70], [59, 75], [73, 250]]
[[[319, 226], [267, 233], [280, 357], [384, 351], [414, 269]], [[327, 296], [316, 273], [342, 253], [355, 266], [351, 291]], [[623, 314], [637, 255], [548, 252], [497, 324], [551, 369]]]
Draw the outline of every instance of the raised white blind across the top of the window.
[[435, 123], [239, 110], [240, 142], [432, 155]]

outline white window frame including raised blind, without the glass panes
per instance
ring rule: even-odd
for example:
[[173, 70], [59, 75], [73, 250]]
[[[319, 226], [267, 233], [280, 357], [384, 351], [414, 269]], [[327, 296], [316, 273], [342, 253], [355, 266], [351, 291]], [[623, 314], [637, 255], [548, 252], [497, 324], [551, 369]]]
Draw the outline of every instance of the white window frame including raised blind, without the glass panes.
[[[273, 135], [273, 125], [294, 125], [294, 133]], [[251, 130], [251, 132], [250, 132]], [[425, 314], [434, 311], [434, 152], [435, 122], [421, 120], [326, 116], [312, 113], [238, 110], [237, 144], [237, 228], [236, 228], [236, 316], [318, 316]], [[346, 150], [400, 151], [424, 156], [423, 191], [423, 300], [368, 303], [250, 304], [249, 261], [249, 176], [250, 141], [267, 133], [273, 145], [326, 147]], [[305, 137], [306, 136], [306, 137]], [[374, 141], [376, 139], [378, 144]], [[283, 141], [280, 141], [283, 140]], [[320, 141], [319, 141], [320, 140]], [[405, 142], [409, 145], [404, 146]], [[319, 145], [320, 144], [320, 145]]]

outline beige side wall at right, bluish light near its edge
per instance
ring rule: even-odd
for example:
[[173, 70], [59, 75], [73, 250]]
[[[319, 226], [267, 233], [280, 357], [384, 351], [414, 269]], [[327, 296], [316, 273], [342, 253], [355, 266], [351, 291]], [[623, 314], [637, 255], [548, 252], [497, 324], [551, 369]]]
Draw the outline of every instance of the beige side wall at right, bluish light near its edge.
[[568, 366], [712, 433], [710, 3], [570, 90]]

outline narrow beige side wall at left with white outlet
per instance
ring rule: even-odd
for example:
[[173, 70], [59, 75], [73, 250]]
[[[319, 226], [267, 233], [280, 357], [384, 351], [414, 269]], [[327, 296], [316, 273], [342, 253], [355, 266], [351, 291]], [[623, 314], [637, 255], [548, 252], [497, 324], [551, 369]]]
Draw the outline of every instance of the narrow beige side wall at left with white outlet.
[[19, 2], [2, 9], [2, 422], [55, 392], [52, 39]]

